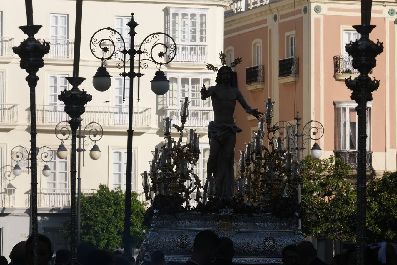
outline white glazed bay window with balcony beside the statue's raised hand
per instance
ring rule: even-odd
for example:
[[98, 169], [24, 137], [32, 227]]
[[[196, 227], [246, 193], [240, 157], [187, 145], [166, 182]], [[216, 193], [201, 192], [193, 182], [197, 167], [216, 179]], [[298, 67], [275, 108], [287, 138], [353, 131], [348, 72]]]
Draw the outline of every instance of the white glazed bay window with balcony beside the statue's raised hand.
[[189, 97], [189, 118], [185, 126], [206, 127], [213, 119], [212, 102], [208, 98], [202, 100], [201, 87], [204, 84], [208, 89], [214, 85], [214, 74], [193, 73], [167, 73], [170, 80], [170, 91], [167, 93], [166, 117], [173, 118], [175, 123], [179, 121], [179, 110], [181, 108], [181, 100]]

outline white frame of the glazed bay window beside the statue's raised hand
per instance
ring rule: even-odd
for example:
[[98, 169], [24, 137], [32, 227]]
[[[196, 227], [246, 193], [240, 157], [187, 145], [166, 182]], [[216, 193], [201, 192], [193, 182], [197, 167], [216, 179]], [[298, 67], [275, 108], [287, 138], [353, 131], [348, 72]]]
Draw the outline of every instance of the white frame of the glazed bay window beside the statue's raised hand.
[[[200, 89], [201, 89], [202, 84], [203, 84], [203, 79], [210, 79], [211, 80], [211, 86], [216, 85], [215, 76], [212, 73], [200, 73], [200, 74], [197, 73], [196, 74], [196, 73], [186, 73], [186, 72], [167, 72], [166, 75], [167, 75], [168, 80], [170, 80], [170, 78], [177, 78], [177, 80], [178, 80], [178, 99], [177, 99], [177, 104], [178, 105], [177, 106], [170, 106], [170, 97], [169, 97], [170, 93], [167, 93], [167, 101], [166, 101], [167, 102], [167, 108], [181, 108], [181, 102], [180, 102], [180, 100], [182, 99], [180, 97], [180, 95], [181, 95], [181, 87], [180, 87], [181, 78], [189, 78], [189, 80], [190, 80], [189, 83], [190, 84], [191, 84], [191, 79], [199, 78], [200, 79]], [[208, 87], [206, 87], [206, 89], [208, 89]], [[201, 96], [201, 94], [199, 95], [199, 98], [198, 98], [198, 100], [200, 101], [200, 106], [195, 106], [195, 107], [189, 106], [189, 110], [190, 109], [192, 109], [192, 110], [197, 110], [197, 109], [211, 110], [212, 109], [212, 103], [210, 104], [209, 107], [204, 107], [203, 106], [203, 100], [200, 99], [200, 96]], [[209, 98], [209, 99], [206, 99], [206, 100], [211, 100], [211, 99]], [[190, 97], [189, 97], [189, 101], [192, 101]]]

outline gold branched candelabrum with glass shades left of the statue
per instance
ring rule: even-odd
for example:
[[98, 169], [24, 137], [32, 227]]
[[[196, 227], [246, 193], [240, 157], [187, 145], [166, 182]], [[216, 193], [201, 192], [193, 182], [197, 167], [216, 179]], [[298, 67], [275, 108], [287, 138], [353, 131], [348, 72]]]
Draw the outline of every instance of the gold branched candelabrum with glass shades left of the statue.
[[[164, 118], [164, 139], [161, 150], [152, 151], [152, 161], [149, 161], [150, 169], [141, 174], [142, 186], [146, 200], [153, 195], [179, 195], [186, 200], [189, 207], [191, 193], [196, 192], [195, 200], [202, 199], [200, 178], [193, 172], [192, 165], [196, 165], [200, 155], [198, 138], [200, 134], [196, 129], [186, 129], [187, 139], [183, 144], [183, 129], [189, 116], [189, 103], [186, 97], [181, 100], [181, 126], [171, 124], [172, 118]], [[174, 141], [171, 137], [172, 127], [179, 132], [179, 139]], [[190, 169], [189, 169], [190, 167]]]

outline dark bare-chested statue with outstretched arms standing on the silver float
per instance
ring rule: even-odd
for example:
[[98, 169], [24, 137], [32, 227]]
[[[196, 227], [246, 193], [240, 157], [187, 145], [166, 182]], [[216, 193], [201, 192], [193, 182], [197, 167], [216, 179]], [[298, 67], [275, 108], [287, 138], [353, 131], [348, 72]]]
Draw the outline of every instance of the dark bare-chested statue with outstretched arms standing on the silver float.
[[[234, 146], [236, 133], [241, 132], [234, 123], [236, 101], [245, 109], [245, 112], [260, 118], [258, 109], [248, 106], [241, 91], [231, 86], [233, 71], [228, 66], [222, 66], [216, 77], [216, 85], [205, 86], [201, 89], [201, 99], [211, 97], [214, 110], [214, 121], [208, 124], [210, 137], [210, 155], [207, 162], [207, 177], [214, 175], [215, 193], [219, 197], [234, 196]], [[206, 186], [204, 186], [206, 192]]]

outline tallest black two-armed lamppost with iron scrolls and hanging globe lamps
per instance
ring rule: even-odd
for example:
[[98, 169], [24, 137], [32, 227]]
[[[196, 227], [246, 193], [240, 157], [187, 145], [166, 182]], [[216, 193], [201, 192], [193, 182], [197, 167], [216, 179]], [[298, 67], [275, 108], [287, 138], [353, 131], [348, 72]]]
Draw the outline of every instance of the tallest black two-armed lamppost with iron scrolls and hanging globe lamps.
[[[109, 89], [112, 81], [109, 73], [103, 66], [105, 60], [119, 60], [121, 61], [116, 64], [117, 68], [123, 68], [123, 72], [120, 74], [123, 76], [123, 102], [124, 102], [124, 90], [125, 90], [125, 77], [129, 77], [129, 113], [128, 113], [128, 130], [127, 130], [127, 170], [125, 175], [125, 215], [124, 215], [124, 232], [123, 232], [123, 246], [124, 255], [129, 256], [131, 253], [131, 233], [130, 233], [130, 222], [131, 222], [131, 179], [132, 179], [132, 137], [133, 137], [133, 95], [134, 95], [134, 78], [138, 77], [138, 101], [139, 101], [139, 78], [143, 75], [140, 70], [148, 67], [147, 62], [154, 62], [159, 66], [156, 75], [151, 82], [151, 89], [157, 95], [163, 95], [167, 93], [170, 88], [170, 81], [167, 80], [164, 72], [159, 70], [164, 64], [170, 63], [176, 55], [176, 44], [172, 37], [166, 33], [156, 32], [148, 35], [143, 39], [139, 46], [139, 49], [134, 48], [135, 43], [135, 27], [138, 23], [134, 21], [134, 13], [131, 13], [131, 21], [127, 23], [130, 28], [129, 35], [131, 36], [130, 48], [127, 50], [125, 41], [121, 34], [110, 27], [99, 29], [94, 33], [90, 40], [90, 49], [92, 54], [102, 61], [102, 66], [98, 68], [98, 72], [93, 76], [93, 86], [98, 91], [106, 91]], [[97, 37], [100, 33], [106, 32], [104, 37]], [[165, 41], [160, 41], [160, 36], [164, 35]], [[116, 47], [115, 43], [120, 43], [121, 47]], [[144, 44], [152, 44], [150, 51], [143, 49]], [[99, 47], [97, 47], [98, 45]], [[110, 48], [110, 50], [109, 50]], [[98, 53], [99, 52], [99, 53]], [[98, 55], [96, 55], [98, 53]], [[145, 53], [146, 59], [141, 59], [141, 55]], [[109, 55], [109, 56], [105, 56]], [[118, 58], [117, 54], [123, 54], [123, 59]], [[126, 54], [129, 54], [130, 59], [126, 60]], [[156, 55], [154, 59], [153, 54]], [[134, 72], [134, 57], [138, 56], [138, 72]], [[129, 61], [129, 72], [125, 72], [125, 64]]]

